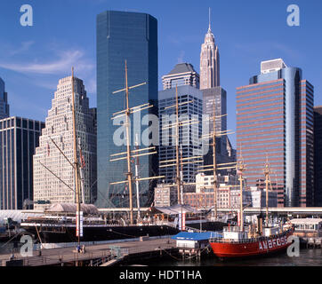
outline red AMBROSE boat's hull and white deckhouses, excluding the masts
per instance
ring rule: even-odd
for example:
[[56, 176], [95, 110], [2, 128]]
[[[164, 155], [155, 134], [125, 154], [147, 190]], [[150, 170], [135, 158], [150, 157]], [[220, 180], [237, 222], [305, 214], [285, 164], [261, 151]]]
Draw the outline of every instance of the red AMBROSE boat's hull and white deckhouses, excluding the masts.
[[213, 254], [220, 258], [264, 256], [286, 250], [292, 243], [287, 239], [294, 232], [293, 227], [286, 231], [280, 227], [271, 227], [264, 229], [264, 236], [248, 238], [247, 232], [238, 231], [239, 227], [224, 229], [223, 238], [209, 240]]

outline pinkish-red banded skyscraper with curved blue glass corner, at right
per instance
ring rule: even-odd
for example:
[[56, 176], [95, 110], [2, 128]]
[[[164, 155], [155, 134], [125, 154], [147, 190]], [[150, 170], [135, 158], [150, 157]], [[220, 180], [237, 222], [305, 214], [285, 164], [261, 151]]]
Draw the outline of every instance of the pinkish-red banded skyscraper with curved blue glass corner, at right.
[[282, 59], [262, 61], [261, 75], [237, 88], [237, 158], [248, 185], [263, 185], [266, 159], [278, 206], [313, 204], [313, 86]]

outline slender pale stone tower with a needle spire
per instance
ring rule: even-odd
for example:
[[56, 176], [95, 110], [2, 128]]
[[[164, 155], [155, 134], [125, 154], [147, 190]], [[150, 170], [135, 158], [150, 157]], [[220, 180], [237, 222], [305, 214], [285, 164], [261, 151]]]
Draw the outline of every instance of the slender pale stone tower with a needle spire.
[[214, 36], [210, 28], [209, 9], [209, 28], [200, 52], [200, 90], [220, 85], [219, 50], [214, 43]]

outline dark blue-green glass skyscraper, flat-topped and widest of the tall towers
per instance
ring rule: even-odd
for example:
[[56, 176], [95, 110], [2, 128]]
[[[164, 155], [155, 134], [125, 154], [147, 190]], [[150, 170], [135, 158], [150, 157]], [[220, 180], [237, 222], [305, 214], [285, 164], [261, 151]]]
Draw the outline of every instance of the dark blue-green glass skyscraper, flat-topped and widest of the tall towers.
[[[120, 145], [114, 137], [122, 122], [111, 120], [112, 114], [125, 109], [125, 93], [113, 94], [113, 91], [125, 88], [125, 60], [128, 85], [146, 83], [130, 90], [130, 107], [147, 103], [154, 106], [131, 115], [131, 119], [135, 120], [131, 123], [131, 146], [134, 146], [137, 136], [139, 146], [147, 147], [148, 145], [143, 144], [142, 136], [147, 126], [144, 121], [141, 123], [141, 119], [147, 118], [146, 114], [157, 114], [157, 20], [140, 12], [101, 12], [97, 16], [99, 207], [129, 206], [127, 185], [110, 185], [126, 179], [126, 160], [109, 161], [111, 154], [126, 151], [126, 141]], [[141, 156], [140, 177], [157, 176], [157, 165], [157, 154]], [[141, 206], [149, 206], [152, 203], [154, 184], [155, 182], [150, 180], [140, 182]], [[135, 207], [135, 195], [133, 204]]]

